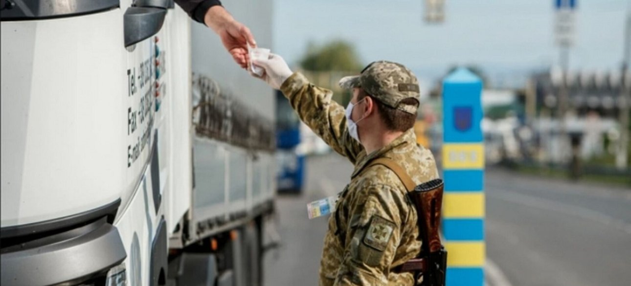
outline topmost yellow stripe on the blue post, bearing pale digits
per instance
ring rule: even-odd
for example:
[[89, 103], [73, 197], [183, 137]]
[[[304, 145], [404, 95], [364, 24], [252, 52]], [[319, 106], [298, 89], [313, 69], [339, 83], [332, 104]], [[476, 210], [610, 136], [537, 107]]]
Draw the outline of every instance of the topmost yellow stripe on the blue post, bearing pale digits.
[[445, 169], [483, 169], [484, 145], [481, 143], [444, 144], [442, 162]]

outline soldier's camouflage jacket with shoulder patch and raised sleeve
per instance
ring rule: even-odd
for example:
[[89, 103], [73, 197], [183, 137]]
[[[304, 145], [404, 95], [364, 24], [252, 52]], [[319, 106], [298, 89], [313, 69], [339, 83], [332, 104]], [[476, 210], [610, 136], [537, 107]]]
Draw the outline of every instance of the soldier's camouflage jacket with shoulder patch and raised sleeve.
[[366, 154], [348, 134], [345, 109], [333, 92], [294, 73], [281, 86], [300, 119], [355, 171], [329, 217], [319, 285], [413, 285], [411, 273], [392, 271], [420, 251], [416, 211], [403, 182], [383, 165], [363, 168], [387, 157], [408, 171], [416, 184], [438, 177], [432, 153], [416, 144], [413, 129], [380, 150]]

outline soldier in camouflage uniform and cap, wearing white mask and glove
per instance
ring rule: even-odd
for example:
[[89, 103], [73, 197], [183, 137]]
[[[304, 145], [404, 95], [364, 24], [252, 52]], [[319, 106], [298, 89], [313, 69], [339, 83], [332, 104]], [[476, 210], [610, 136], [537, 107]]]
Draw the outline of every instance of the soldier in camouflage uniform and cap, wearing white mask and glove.
[[340, 80], [343, 88], [353, 90], [345, 110], [331, 100], [330, 90], [292, 73], [280, 56], [254, 64], [266, 70], [262, 79], [285, 94], [300, 119], [355, 165], [329, 218], [319, 284], [414, 285], [412, 274], [397, 267], [420, 251], [416, 210], [392, 170], [365, 167], [386, 157], [416, 184], [438, 177], [432, 153], [416, 144], [413, 131], [419, 104], [416, 76], [401, 64], [374, 62], [359, 76]]

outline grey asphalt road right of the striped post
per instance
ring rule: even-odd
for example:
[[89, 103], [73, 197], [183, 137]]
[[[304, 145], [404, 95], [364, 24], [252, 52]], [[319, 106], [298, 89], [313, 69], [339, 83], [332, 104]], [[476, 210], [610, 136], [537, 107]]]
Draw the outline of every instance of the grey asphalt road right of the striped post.
[[487, 257], [512, 285], [631, 285], [631, 189], [486, 179]]

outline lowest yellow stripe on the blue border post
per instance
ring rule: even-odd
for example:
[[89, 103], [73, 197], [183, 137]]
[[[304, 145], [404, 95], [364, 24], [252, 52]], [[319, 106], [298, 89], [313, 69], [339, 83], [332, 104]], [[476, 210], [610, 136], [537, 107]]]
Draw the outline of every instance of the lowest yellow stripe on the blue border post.
[[480, 242], [445, 242], [447, 266], [484, 266], [485, 244]]

